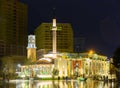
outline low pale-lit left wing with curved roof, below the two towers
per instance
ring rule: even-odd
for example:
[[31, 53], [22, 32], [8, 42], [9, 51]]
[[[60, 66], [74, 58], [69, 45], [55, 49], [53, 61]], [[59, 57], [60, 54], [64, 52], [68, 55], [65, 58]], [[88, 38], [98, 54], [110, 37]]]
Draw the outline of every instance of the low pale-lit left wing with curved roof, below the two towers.
[[51, 78], [54, 68], [54, 60], [51, 58], [41, 58], [34, 65], [24, 65], [21, 67], [20, 76], [22, 77], [38, 77]]

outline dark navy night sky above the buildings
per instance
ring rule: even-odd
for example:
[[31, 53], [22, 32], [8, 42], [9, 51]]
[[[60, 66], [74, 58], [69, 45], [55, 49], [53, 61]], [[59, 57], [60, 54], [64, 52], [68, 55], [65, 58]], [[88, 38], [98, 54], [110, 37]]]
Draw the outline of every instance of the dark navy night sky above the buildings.
[[119, 0], [21, 0], [28, 5], [28, 34], [42, 22], [71, 23], [74, 36], [84, 36], [86, 50], [111, 57], [120, 45]]

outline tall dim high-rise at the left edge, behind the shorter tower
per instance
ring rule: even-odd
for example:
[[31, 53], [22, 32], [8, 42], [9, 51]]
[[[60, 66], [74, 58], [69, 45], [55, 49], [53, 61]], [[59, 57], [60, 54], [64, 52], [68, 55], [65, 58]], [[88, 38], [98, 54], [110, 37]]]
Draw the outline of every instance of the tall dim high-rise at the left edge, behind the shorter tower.
[[26, 55], [27, 5], [18, 0], [0, 0], [0, 41], [0, 57]]

